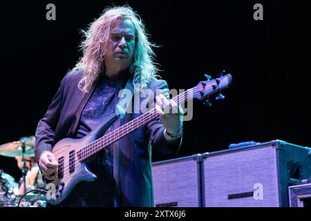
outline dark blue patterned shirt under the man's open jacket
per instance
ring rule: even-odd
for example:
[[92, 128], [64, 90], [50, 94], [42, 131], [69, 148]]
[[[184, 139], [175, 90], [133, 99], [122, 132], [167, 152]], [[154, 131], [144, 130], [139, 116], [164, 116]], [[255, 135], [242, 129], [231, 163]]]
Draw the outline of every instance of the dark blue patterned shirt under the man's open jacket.
[[[120, 89], [124, 88], [126, 80], [112, 80], [102, 76], [97, 86], [86, 103], [77, 126], [77, 138], [82, 138], [109, 115], [115, 113], [115, 106], [119, 100], [117, 96]], [[112, 125], [106, 133], [113, 131]], [[94, 159], [88, 163], [95, 175], [95, 182], [84, 182], [77, 186], [77, 191], [71, 202], [71, 206], [113, 206], [115, 181], [113, 179], [113, 144], [97, 153]]]

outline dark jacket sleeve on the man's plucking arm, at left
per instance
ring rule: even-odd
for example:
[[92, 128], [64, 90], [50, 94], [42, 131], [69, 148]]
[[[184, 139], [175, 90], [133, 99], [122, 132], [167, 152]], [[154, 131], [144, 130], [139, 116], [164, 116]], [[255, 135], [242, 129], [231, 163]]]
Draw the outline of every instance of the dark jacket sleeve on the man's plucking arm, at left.
[[59, 116], [62, 110], [62, 100], [66, 77], [67, 75], [62, 79], [60, 87], [53, 97], [52, 103], [50, 106], [48, 106], [48, 111], [46, 111], [44, 117], [40, 119], [37, 125], [35, 132], [35, 157], [37, 161], [39, 160], [39, 157], [43, 151], [52, 151], [55, 128], [59, 121]]

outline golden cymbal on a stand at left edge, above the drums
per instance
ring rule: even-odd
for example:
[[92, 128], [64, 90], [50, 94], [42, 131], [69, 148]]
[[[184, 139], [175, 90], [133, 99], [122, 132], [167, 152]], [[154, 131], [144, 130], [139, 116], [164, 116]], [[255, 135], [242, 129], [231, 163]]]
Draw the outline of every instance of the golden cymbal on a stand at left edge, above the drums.
[[0, 145], [0, 155], [5, 157], [35, 157], [35, 141], [25, 142], [25, 153], [20, 141]]

